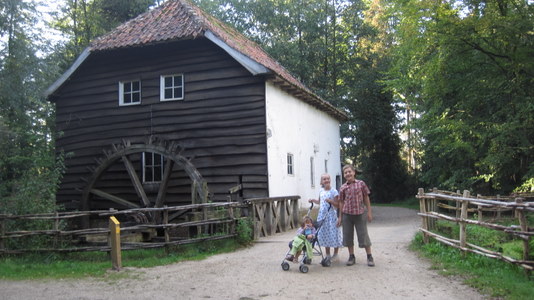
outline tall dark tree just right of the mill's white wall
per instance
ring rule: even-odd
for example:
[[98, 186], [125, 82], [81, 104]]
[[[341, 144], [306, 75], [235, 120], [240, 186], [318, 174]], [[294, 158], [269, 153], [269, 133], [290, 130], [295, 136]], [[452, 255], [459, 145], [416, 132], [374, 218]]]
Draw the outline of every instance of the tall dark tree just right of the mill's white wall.
[[[345, 62], [353, 67], [344, 70], [350, 98], [341, 105], [351, 117], [343, 126], [343, 136], [349, 141], [344, 144], [345, 155], [360, 163], [373, 200], [392, 202], [413, 195], [414, 187], [400, 157], [397, 107], [383, 83], [391, 46], [383, 9], [381, 1], [355, 1], [348, 7], [345, 34], [357, 40], [352, 38]], [[357, 16], [361, 20], [354, 22]]]

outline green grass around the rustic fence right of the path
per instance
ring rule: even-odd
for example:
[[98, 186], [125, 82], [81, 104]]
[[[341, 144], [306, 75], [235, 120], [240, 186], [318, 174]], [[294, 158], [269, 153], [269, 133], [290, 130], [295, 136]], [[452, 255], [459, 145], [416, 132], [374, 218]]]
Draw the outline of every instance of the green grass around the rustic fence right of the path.
[[[419, 200], [415, 197], [397, 203], [373, 203], [372, 205], [419, 210]], [[515, 220], [511, 222], [515, 222]], [[533, 222], [534, 217], [529, 215], [528, 223], [533, 224]], [[446, 236], [458, 239], [459, 226], [457, 224], [438, 221], [437, 227]], [[503, 232], [479, 226], [468, 226], [467, 229], [468, 242], [503, 252], [504, 255], [512, 258], [521, 259], [521, 241], [513, 240], [510, 235]], [[534, 273], [528, 273], [521, 267], [474, 253], [463, 253], [433, 239], [428, 244], [424, 244], [422, 233], [417, 233], [410, 249], [430, 259], [432, 268], [441, 275], [463, 278], [466, 284], [479, 290], [482, 294], [507, 300], [533, 299]], [[530, 240], [530, 249], [534, 249], [533, 238]]]

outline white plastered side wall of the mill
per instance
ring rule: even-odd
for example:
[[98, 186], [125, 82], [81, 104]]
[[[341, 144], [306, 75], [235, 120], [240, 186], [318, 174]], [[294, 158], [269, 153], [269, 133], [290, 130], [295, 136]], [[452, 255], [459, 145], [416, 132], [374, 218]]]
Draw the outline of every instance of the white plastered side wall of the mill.
[[[300, 207], [309, 208], [308, 199], [318, 197], [325, 169], [334, 187], [336, 176], [341, 175], [339, 122], [271, 82], [266, 83], [266, 102], [269, 196], [298, 195]], [[288, 153], [293, 154], [293, 175], [287, 172]]]

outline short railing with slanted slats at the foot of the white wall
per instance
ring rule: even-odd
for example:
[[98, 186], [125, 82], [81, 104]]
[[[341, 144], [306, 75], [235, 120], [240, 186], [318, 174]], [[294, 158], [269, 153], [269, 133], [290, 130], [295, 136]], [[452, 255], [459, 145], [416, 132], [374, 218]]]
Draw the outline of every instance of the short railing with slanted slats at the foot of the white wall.
[[245, 199], [252, 211], [254, 238], [299, 226], [299, 196]]

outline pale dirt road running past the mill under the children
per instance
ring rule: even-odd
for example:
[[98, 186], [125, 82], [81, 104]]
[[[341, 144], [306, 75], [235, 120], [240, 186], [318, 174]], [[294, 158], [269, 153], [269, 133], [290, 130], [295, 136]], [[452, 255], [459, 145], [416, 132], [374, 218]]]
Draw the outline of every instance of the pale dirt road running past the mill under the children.
[[331, 267], [315, 257], [309, 272], [280, 264], [293, 232], [262, 238], [253, 247], [149, 269], [127, 269], [125, 279], [0, 281], [0, 299], [484, 299], [472, 288], [443, 277], [407, 250], [419, 224], [413, 210], [375, 207], [369, 224], [376, 266], [357, 249], [346, 266], [346, 249]]

